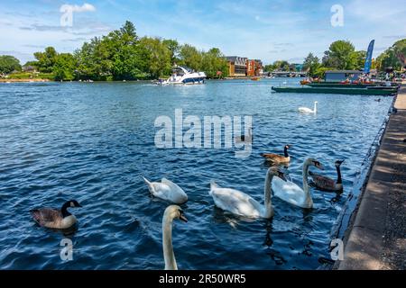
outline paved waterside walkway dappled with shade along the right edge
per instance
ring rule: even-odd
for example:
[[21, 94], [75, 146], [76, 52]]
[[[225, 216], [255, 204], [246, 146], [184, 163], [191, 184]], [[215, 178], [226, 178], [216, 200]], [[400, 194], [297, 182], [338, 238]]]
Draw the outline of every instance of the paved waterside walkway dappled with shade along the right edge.
[[[344, 238], [340, 270], [405, 269], [406, 85], [401, 86], [371, 174]], [[395, 110], [395, 111], [396, 111]]]

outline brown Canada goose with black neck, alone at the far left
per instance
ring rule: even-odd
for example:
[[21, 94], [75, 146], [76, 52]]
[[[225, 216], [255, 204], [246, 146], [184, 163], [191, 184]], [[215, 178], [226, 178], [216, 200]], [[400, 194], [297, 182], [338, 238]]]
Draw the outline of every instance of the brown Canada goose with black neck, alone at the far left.
[[33, 220], [39, 225], [53, 229], [68, 229], [77, 219], [69, 213], [68, 208], [82, 207], [76, 200], [65, 202], [60, 210], [52, 208], [34, 209], [31, 212]]

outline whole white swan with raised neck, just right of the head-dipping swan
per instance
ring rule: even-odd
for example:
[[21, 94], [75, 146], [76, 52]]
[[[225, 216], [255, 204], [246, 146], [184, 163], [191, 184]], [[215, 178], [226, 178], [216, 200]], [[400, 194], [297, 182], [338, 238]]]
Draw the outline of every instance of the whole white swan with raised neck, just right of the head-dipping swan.
[[271, 218], [273, 216], [271, 183], [275, 175], [283, 178], [283, 174], [276, 167], [269, 168], [265, 178], [264, 204], [255, 201], [250, 195], [241, 191], [221, 188], [213, 181], [209, 194], [213, 197], [216, 206], [225, 211], [249, 218]]

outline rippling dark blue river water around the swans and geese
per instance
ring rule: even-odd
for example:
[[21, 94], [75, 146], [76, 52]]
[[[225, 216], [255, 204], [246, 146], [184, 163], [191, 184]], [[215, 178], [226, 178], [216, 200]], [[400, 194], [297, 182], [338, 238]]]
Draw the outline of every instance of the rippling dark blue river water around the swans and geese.
[[[0, 85], [0, 269], [161, 269], [161, 217], [142, 175], [167, 177], [189, 194], [189, 222], [175, 221], [180, 269], [316, 269], [329, 257], [330, 233], [353, 189], [392, 97], [276, 94], [298, 79], [208, 81], [206, 85], [32, 83]], [[302, 115], [298, 107], [317, 115]], [[252, 116], [250, 157], [235, 148], [156, 148], [158, 116]], [[306, 157], [316, 157], [344, 193], [311, 188], [314, 208], [273, 198], [272, 220], [246, 220], [214, 206], [210, 180], [263, 201], [267, 166], [260, 153], [292, 144], [289, 174], [300, 184]], [[77, 199], [73, 232], [37, 226], [29, 211]], [[73, 260], [60, 258], [70, 238]]]

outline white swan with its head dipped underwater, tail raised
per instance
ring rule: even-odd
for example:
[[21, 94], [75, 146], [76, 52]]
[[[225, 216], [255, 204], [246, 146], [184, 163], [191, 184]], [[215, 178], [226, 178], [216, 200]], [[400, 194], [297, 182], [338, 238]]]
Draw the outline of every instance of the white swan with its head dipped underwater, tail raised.
[[143, 177], [143, 181], [148, 185], [150, 193], [154, 197], [161, 198], [176, 204], [181, 204], [188, 201], [188, 195], [178, 186], [166, 178], [159, 182], [150, 182]]

